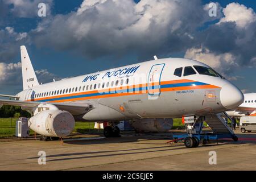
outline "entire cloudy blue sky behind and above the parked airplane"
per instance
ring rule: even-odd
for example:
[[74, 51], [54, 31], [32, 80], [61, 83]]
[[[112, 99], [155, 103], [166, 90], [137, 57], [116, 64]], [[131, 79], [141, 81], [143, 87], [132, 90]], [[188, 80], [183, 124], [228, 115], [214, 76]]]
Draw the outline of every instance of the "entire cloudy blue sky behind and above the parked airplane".
[[[158, 55], [204, 61], [244, 92], [256, 92], [250, 81], [256, 76], [255, 1], [16, 2], [22, 3], [0, 1], [1, 93], [22, 89], [17, 64], [22, 44], [40, 82]], [[46, 17], [37, 15], [39, 2], [47, 4]], [[208, 15], [210, 2], [217, 4], [216, 17]]]

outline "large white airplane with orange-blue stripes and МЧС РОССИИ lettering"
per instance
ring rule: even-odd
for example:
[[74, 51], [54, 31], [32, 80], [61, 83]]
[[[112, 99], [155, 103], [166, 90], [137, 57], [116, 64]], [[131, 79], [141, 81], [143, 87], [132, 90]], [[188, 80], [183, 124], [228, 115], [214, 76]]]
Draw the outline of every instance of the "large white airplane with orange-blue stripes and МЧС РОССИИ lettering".
[[47, 137], [70, 134], [75, 119], [109, 121], [106, 137], [119, 135], [115, 122], [153, 121], [221, 113], [243, 102], [242, 92], [208, 65], [167, 58], [127, 65], [40, 85], [21, 46], [23, 91], [1, 105], [21, 106], [33, 117], [30, 129]]

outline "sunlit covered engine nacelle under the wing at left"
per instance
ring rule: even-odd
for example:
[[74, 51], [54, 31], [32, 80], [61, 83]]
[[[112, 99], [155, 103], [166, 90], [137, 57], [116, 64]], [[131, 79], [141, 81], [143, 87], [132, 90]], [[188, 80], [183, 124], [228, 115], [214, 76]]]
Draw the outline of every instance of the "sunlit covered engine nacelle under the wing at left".
[[28, 127], [47, 137], [65, 137], [75, 127], [75, 119], [68, 111], [44, 110], [31, 117]]

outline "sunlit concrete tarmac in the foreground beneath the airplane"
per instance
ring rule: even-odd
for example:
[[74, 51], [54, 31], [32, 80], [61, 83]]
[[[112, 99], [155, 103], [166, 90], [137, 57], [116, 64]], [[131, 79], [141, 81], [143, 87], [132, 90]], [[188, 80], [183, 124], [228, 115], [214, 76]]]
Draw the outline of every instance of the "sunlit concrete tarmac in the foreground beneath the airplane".
[[[172, 133], [125, 133], [118, 138], [87, 134], [63, 143], [0, 139], [0, 170], [256, 170], [256, 133], [236, 134], [238, 142], [222, 140], [197, 148], [167, 144]], [[209, 163], [212, 151], [216, 164]]]

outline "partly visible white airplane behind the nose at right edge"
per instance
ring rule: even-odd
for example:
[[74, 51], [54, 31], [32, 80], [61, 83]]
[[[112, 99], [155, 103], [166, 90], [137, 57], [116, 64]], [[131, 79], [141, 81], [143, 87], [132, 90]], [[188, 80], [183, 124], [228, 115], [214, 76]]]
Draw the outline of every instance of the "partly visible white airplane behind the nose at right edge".
[[242, 117], [245, 115], [256, 116], [256, 93], [245, 93], [243, 103], [235, 110], [226, 111], [233, 117]]

